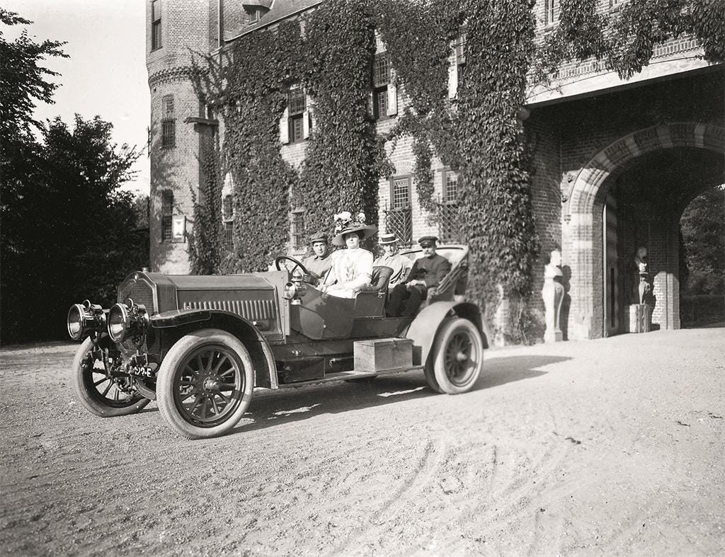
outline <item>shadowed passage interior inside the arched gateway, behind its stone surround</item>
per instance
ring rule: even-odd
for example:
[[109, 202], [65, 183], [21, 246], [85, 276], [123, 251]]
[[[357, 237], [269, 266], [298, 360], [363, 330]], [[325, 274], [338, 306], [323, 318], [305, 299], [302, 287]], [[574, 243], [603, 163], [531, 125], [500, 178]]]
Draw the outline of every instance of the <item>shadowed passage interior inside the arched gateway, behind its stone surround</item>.
[[681, 146], [631, 159], [610, 177], [602, 203], [604, 335], [627, 331], [627, 306], [642, 292], [637, 252], [645, 250], [651, 325], [681, 327], [680, 216], [703, 190], [723, 183], [724, 169], [722, 154]]

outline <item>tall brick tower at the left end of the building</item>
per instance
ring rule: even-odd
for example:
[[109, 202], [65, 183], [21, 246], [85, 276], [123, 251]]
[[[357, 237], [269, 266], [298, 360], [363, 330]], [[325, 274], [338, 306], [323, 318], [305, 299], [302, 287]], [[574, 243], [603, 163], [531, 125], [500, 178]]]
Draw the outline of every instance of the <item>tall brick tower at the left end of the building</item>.
[[[239, 7], [241, 11], [241, 6]], [[153, 271], [188, 274], [188, 233], [194, 223], [192, 192], [203, 175], [199, 155], [217, 133], [191, 80], [192, 59], [220, 46], [222, 0], [146, 1], [146, 69], [151, 90], [149, 214]], [[236, 9], [235, 9], [236, 11]], [[236, 13], [228, 14], [234, 24]]]

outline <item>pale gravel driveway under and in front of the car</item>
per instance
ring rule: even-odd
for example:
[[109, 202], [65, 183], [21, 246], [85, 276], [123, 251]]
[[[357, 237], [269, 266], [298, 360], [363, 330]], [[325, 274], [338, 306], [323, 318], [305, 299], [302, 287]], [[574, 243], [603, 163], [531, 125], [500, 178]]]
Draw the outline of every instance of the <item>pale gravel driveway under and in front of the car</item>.
[[0, 352], [9, 555], [725, 553], [721, 328], [487, 351], [465, 395], [261, 392], [202, 441], [88, 414], [74, 351]]

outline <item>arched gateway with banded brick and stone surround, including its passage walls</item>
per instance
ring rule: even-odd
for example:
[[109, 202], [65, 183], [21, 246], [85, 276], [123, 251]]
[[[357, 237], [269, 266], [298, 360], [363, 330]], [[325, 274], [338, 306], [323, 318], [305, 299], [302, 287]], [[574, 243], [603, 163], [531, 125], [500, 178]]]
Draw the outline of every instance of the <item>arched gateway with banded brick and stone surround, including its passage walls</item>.
[[[720, 168], [721, 179], [724, 154], [725, 128], [675, 122], [626, 135], [584, 165], [571, 185], [562, 225], [563, 262], [571, 269], [569, 338], [621, 331], [621, 312], [629, 303], [626, 261], [636, 244], [645, 242], [650, 243], [653, 323], [679, 328], [679, 217], [692, 198], [715, 185], [697, 184], [705, 179], [698, 165], [706, 161], [716, 173]], [[661, 183], [671, 161], [679, 165], [677, 172], [691, 171], [684, 177], [689, 185]], [[623, 242], [622, 230], [634, 237]]]

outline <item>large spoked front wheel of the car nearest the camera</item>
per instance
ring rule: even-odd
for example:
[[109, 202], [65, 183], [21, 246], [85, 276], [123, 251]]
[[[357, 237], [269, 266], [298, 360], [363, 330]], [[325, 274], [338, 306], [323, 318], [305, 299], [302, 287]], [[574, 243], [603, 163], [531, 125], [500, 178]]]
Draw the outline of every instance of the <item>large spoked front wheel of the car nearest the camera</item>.
[[252, 401], [254, 367], [244, 344], [205, 329], [180, 338], [157, 376], [157, 403], [168, 424], [189, 439], [223, 435]]

